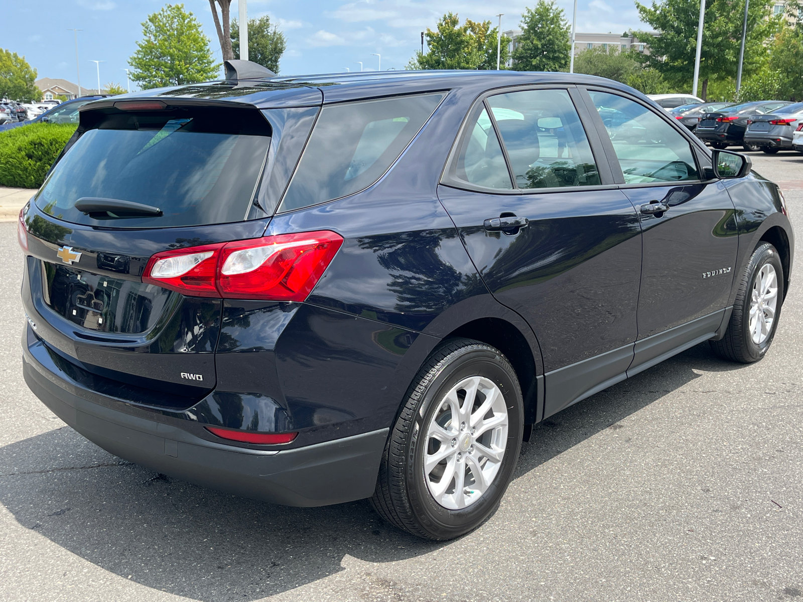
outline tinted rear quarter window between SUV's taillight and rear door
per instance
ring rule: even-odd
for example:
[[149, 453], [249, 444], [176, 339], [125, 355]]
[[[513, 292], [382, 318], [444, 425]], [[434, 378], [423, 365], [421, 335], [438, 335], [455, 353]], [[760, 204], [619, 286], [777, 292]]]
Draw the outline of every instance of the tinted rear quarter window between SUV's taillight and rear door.
[[443, 92], [324, 107], [279, 211], [300, 209], [365, 189], [402, 154]]

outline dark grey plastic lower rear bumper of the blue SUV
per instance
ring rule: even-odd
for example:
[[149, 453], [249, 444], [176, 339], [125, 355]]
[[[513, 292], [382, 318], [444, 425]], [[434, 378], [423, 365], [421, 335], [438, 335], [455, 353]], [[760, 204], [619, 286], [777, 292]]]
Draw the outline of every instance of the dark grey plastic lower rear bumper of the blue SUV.
[[[111, 454], [171, 477], [286, 506], [326, 506], [373, 494], [388, 429], [280, 451], [206, 441], [186, 429], [115, 409], [23, 345], [22, 372], [56, 416]], [[102, 397], [102, 396], [101, 396]]]

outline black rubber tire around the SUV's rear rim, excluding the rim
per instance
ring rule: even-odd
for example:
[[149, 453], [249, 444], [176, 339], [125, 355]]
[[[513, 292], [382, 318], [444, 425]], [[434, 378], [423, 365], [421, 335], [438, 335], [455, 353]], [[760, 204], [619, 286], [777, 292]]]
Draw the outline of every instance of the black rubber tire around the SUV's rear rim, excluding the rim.
[[[468, 376], [485, 376], [503, 393], [507, 408], [507, 441], [495, 478], [470, 506], [449, 510], [430, 494], [423, 470], [430, 417], [442, 396]], [[388, 441], [371, 505], [388, 523], [422, 539], [445, 540], [479, 527], [499, 506], [521, 449], [524, 404], [516, 372], [498, 349], [477, 340], [455, 338], [435, 349], [407, 391]], [[473, 448], [472, 448], [473, 449]]]

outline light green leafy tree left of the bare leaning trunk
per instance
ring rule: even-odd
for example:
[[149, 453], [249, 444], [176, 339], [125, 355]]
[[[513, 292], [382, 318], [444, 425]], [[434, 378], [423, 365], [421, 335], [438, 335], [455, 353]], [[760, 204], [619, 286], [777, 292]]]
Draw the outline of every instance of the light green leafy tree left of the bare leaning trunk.
[[144, 39], [128, 59], [131, 79], [141, 87], [179, 86], [214, 79], [220, 65], [214, 62], [209, 38], [201, 23], [183, 4], [168, 4], [142, 23]]

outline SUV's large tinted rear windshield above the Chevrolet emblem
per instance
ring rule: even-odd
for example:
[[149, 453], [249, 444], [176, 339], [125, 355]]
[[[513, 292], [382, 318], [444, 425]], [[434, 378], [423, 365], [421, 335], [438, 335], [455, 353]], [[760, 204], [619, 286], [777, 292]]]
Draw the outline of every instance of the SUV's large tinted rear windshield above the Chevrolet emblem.
[[[112, 112], [64, 154], [36, 205], [55, 218], [92, 226], [239, 222], [251, 208], [270, 142], [270, 125], [256, 110]], [[90, 216], [75, 209], [86, 197], [133, 201], [162, 214]]]

